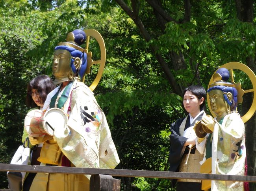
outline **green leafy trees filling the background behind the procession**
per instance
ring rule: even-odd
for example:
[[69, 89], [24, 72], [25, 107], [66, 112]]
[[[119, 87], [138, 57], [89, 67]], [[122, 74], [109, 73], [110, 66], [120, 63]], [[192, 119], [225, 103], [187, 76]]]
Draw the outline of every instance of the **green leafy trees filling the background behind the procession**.
[[[182, 90], [191, 84], [207, 88], [227, 62], [256, 71], [255, 7], [253, 0], [0, 0], [0, 163], [9, 163], [21, 144], [28, 82], [52, 76], [54, 47], [67, 33], [93, 28], [107, 51], [94, 93], [121, 159], [117, 168], [168, 171], [169, 127], [186, 115]], [[96, 43], [89, 48], [94, 60], [100, 57]], [[96, 67], [87, 85], [95, 73]], [[236, 80], [251, 86], [242, 73]], [[252, 96], [239, 107], [242, 115]], [[245, 124], [249, 175], [256, 170], [255, 120]], [[7, 187], [5, 174], [0, 188]], [[124, 191], [171, 190], [163, 179], [121, 182]]]

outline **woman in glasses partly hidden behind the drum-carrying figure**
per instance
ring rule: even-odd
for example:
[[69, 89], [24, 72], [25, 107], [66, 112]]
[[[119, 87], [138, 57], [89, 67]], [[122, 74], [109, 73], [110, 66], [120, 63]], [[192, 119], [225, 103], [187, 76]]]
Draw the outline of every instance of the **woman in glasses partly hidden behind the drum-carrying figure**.
[[[28, 83], [28, 87], [27, 87], [26, 105], [28, 107], [33, 107], [32, 109], [29, 110], [29, 112], [35, 109], [43, 109], [46, 96], [55, 87], [56, 85], [53, 84], [52, 79], [49, 76], [40, 75], [33, 78]], [[24, 127], [22, 142], [24, 142], [27, 137], [28, 137], [28, 133]], [[37, 158], [40, 155], [42, 144], [37, 145], [33, 143], [33, 145], [35, 146], [32, 146], [30, 144], [30, 148], [32, 149], [32, 152], [30, 154], [30, 158], [31, 158], [30, 164], [40, 165], [40, 162], [37, 161]], [[35, 175], [36, 173], [26, 173], [25, 180], [23, 182], [23, 188], [22, 188], [23, 191], [28, 191], [30, 189], [30, 186], [32, 184], [32, 181]]]

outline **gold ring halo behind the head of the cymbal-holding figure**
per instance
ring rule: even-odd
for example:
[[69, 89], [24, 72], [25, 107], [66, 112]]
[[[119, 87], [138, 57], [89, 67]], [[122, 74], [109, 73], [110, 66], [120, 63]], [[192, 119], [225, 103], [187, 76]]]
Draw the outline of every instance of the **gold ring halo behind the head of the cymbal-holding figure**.
[[[247, 113], [245, 115], [242, 116], [242, 120], [245, 123], [245, 122], [247, 122], [252, 117], [252, 115], [256, 111], [256, 107], [255, 107], [255, 104], [256, 104], [256, 96], [255, 96], [256, 76], [255, 76], [254, 72], [247, 65], [245, 65], [243, 63], [240, 63], [240, 62], [228, 62], [228, 63], [220, 66], [219, 68], [223, 68], [223, 67], [230, 71], [230, 77], [231, 77], [232, 81], [234, 81], [233, 69], [238, 69], [238, 70], [243, 71], [249, 77], [250, 81], [252, 82], [252, 89], [245, 90], [245, 93], [249, 93], [249, 92], [253, 92], [254, 93], [253, 100], [252, 100], [252, 105], [250, 106], [250, 109], [247, 111]], [[208, 89], [210, 87], [210, 84], [213, 84], [213, 75], [211, 76], [210, 82], [208, 84]], [[209, 99], [209, 95], [208, 94], [207, 94], [207, 102], [210, 103], [210, 99]], [[211, 110], [211, 107], [210, 107], [209, 104], [208, 104], [208, 107], [210, 109], [211, 115], [213, 117], [215, 117], [216, 115]]]

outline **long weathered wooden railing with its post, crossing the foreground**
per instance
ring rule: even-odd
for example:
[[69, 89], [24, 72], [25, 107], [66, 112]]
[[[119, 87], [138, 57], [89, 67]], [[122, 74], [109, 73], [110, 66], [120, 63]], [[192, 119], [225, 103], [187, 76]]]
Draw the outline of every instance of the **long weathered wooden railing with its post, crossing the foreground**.
[[[59, 167], [59, 166], [33, 166], [33, 165], [13, 165], [0, 164], [0, 171], [15, 172], [40, 172], [40, 173], [67, 173], [93, 175], [90, 180], [90, 191], [100, 191], [106, 189], [104, 185], [113, 186], [113, 191], [120, 190], [120, 180], [111, 176], [145, 177], [145, 178], [186, 178], [197, 180], [225, 180], [237, 182], [256, 182], [256, 176], [240, 175], [217, 175], [204, 173], [181, 173], [169, 171], [145, 171], [128, 169], [98, 169], [80, 167]], [[102, 188], [102, 189], [101, 189]]]

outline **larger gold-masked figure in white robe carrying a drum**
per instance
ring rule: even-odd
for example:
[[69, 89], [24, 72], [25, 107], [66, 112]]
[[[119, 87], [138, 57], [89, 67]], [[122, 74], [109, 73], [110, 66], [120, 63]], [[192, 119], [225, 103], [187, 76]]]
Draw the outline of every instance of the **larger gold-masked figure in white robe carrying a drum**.
[[[85, 39], [84, 31], [76, 29], [68, 34], [67, 42], [55, 47], [52, 72], [60, 85], [49, 93], [43, 110], [59, 108], [68, 120], [64, 127], [53, 127], [53, 136], [43, 138], [38, 158], [42, 165], [113, 169], [120, 162], [104, 112], [93, 92], [80, 82], [87, 69], [87, 54], [80, 47]], [[37, 173], [30, 190], [89, 191], [89, 178]]]

